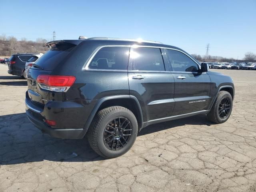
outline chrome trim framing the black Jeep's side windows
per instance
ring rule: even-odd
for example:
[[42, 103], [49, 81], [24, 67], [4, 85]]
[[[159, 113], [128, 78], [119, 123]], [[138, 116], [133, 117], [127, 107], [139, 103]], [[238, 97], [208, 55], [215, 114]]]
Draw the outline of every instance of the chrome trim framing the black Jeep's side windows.
[[[170, 50], [176, 50], [179, 52], [182, 52], [183, 54], [185, 54], [186, 56], [188, 56], [190, 59], [192, 59], [197, 65], [198, 68], [201, 69], [201, 66], [194, 60], [194, 58], [190, 57], [188, 54], [186, 54], [184, 51], [182, 50], [178, 50], [176, 48], [170, 48], [170, 47], [165, 47], [165, 46], [148, 46], [148, 45], [137, 45], [137, 44], [133, 44], [133, 45], [103, 45], [103, 46], [99, 46], [97, 47], [92, 54], [90, 55], [90, 57], [86, 60], [85, 64], [82, 67], [82, 71], [84, 70], [92, 70], [92, 71], [127, 71], [127, 70], [119, 70], [119, 69], [90, 69], [89, 68], [89, 64], [92, 61], [92, 59], [94, 58], [94, 56], [99, 52], [100, 49], [104, 48], [104, 47], [130, 47], [130, 48], [139, 48], [139, 47], [146, 47], [146, 48], [162, 48], [162, 49], [170, 49]], [[138, 71], [138, 72], [148, 72], [147, 70], [145, 71], [139, 71], [139, 70], [129, 70], [129, 71]], [[153, 71], [151, 71], [153, 72]], [[154, 72], [164, 72], [164, 71], [154, 71]], [[166, 71], [165, 71], [166, 72]], [[170, 72], [182, 72], [182, 71], [170, 71]], [[193, 72], [187, 72], [187, 73], [193, 73]], [[197, 73], [197, 72], [195, 72]]]

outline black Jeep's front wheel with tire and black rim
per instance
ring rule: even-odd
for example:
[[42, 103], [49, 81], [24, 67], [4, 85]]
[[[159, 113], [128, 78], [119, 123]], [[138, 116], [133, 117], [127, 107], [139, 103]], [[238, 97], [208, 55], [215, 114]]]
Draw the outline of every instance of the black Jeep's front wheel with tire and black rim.
[[[221, 104], [222, 100], [225, 101], [224, 99], [229, 100], [230, 105], [227, 107], [224, 106], [224, 110], [222, 112], [222, 109], [220, 109], [220, 108], [222, 106], [222, 104]], [[208, 114], [206, 116], [207, 116], [208, 120], [210, 120], [211, 122], [214, 122], [217, 124], [224, 123], [230, 117], [230, 114], [232, 112], [232, 107], [233, 107], [233, 100], [232, 100], [231, 94], [227, 91], [220, 91], [220, 92], [218, 92], [217, 98], [214, 101], [210, 112], [208, 112]], [[227, 114], [224, 111], [226, 111]], [[222, 114], [219, 114], [219, 113], [222, 113]]]

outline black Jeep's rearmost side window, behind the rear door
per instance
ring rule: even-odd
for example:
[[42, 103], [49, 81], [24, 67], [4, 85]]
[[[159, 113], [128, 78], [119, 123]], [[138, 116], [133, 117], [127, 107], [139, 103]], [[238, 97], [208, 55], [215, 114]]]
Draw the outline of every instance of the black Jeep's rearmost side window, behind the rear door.
[[103, 47], [89, 64], [90, 69], [127, 70], [130, 47]]

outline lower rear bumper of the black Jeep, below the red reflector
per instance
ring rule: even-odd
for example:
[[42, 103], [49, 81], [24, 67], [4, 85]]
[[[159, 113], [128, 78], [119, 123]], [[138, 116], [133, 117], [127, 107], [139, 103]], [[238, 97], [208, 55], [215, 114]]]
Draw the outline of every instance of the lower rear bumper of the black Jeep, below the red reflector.
[[55, 138], [61, 139], [82, 139], [86, 134], [86, 130], [84, 129], [54, 129], [48, 126], [44, 122], [43, 116], [40, 114], [42, 111], [34, 106], [31, 106], [30, 103], [26, 100], [26, 114], [30, 122], [36, 126], [36, 128], [40, 129], [42, 132], [49, 134]]

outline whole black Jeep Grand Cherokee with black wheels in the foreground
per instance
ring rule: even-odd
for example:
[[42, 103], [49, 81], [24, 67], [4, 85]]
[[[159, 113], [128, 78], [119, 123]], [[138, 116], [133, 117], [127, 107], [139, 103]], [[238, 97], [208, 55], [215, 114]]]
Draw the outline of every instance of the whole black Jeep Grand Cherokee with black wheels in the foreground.
[[138, 131], [206, 114], [228, 120], [232, 79], [180, 48], [114, 38], [59, 40], [28, 72], [26, 113], [53, 137], [81, 139], [101, 156], [126, 153]]

